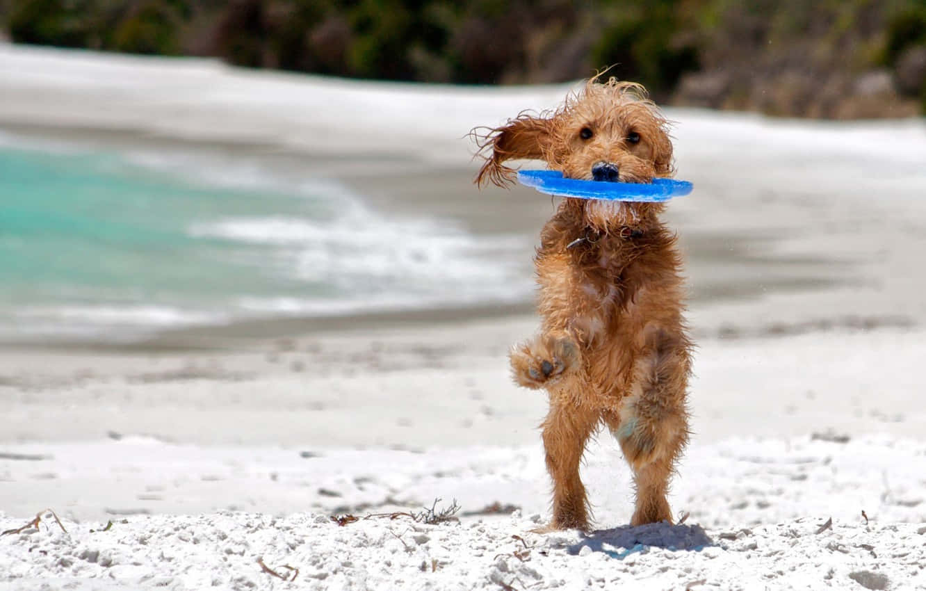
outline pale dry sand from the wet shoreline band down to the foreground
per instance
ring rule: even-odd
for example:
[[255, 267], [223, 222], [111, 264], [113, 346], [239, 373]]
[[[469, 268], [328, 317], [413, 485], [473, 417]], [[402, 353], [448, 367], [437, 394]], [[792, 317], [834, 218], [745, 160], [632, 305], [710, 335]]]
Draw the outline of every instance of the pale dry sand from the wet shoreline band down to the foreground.
[[[872, 585], [886, 577], [882, 588], [926, 585], [926, 446], [907, 438], [923, 424], [910, 372], [922, 333], [703, 342], [694, 443], [671, 495], [676, 514], [690, 514], [685, 525], [623, 525], [630, 473], [602, 435], [583, 469], [605, 530], [591, 537], [530, 533], [546, 519], [533, 429], [544, 400], [507, 383], [503, 347], [488, 338], [507, 342], [504, 333], [494, 323], [411, 331], [408, 341], [373, 333], [371, 347], [332, 336], [269, 354], [31, 355], [56, 370], [2, 388], [0, 529], [48, 507], [69, 533], [49, 516], [0, 536], [0, 572], [10, 588], [861, 588], [853, 573]], [[470, 345], [447, 342], [460, 337]], [[404, 357], [412, 342], [434, 352]], [[330, 375], [293, 371], [296, 361]], [[238, 372], [231, 381], [224, 367]], [[330, 521], [435, 498], [462, 512], [497, 503], [503, 515]], [[815, 534], [830, 518], [832, 530]], [[90, 531], [108, 520], [109, 531]], [[299, 578], [262, 572], [261, 558]]]

